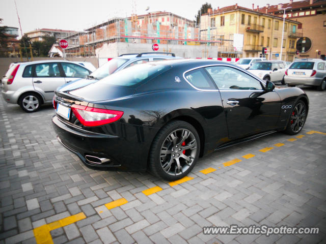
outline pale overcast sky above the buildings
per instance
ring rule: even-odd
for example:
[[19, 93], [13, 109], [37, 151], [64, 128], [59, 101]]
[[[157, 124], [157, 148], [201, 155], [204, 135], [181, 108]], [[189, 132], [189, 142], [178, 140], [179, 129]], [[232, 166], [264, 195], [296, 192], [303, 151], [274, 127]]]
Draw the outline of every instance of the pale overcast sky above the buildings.
[[[141, 15], [154, 11], [167, 11], [194, 20], [198, 10], [206, 2], [210, 3], [213, 9], [217, 9], [218, 7], [222, 8], [236, 3], [246, 8], [252, 8], [252, 4], [255, 3], [255, 8], [257, 8], [257, 5], [263, 7], [266, 4], [276, 5], [289, 1], [16, 0], [22, 33], [30, 32], [37, 28], [83, 31], [113, 17], [126, 17], [132, 13]], [[149, 10], [146, 11], [148, 7]], [[19, 28], [14, 0], [0, 0], [0, 18], [3, 19], [0, 25]]]

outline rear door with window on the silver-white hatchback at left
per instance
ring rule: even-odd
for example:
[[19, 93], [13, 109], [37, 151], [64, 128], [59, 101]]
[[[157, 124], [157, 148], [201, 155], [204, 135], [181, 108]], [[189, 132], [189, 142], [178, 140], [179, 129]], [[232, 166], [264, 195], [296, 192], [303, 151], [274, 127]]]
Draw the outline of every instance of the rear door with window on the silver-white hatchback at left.
[[57, 87], [65, 84], [65, 78], [58, 63], [41, 63], [35, 65], [33, 75], [34, 89], [38, 90], [45, 102], [52, 101]]

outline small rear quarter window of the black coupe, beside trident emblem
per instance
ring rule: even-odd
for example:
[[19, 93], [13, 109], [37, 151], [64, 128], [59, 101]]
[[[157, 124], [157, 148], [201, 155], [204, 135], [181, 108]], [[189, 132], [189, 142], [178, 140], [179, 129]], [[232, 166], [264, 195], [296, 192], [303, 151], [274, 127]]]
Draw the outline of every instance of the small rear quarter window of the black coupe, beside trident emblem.
[[189, 71], [185, 74], [185, 78], [195, 87], [199, 89], [216, 89], [212, 82], [210, 81], [209, 76], [203, 69], [196, 69]]

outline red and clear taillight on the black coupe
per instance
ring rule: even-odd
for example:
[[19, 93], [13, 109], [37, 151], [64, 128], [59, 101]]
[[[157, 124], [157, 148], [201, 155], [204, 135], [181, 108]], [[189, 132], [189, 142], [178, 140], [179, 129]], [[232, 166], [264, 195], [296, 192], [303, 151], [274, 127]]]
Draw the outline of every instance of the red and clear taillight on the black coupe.
[[84, 126], [102, 126], [119, 120], [123, 112], [82, 105], [72, 105], [71, 109]]

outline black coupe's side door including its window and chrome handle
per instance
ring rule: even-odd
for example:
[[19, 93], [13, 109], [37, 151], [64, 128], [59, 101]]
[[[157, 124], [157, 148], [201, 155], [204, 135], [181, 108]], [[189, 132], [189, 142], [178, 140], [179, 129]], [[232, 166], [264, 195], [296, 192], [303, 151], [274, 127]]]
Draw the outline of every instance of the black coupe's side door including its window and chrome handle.
[[214, 66], [215, 73], [228, 73], [229, 79], [214, 76], [212, 67], [205, 70], [221, 94], [230, 139], [276, 128], [280, 116], [280, 97], [266, 92], [262, 83], [248, 73], [229, 66]]

